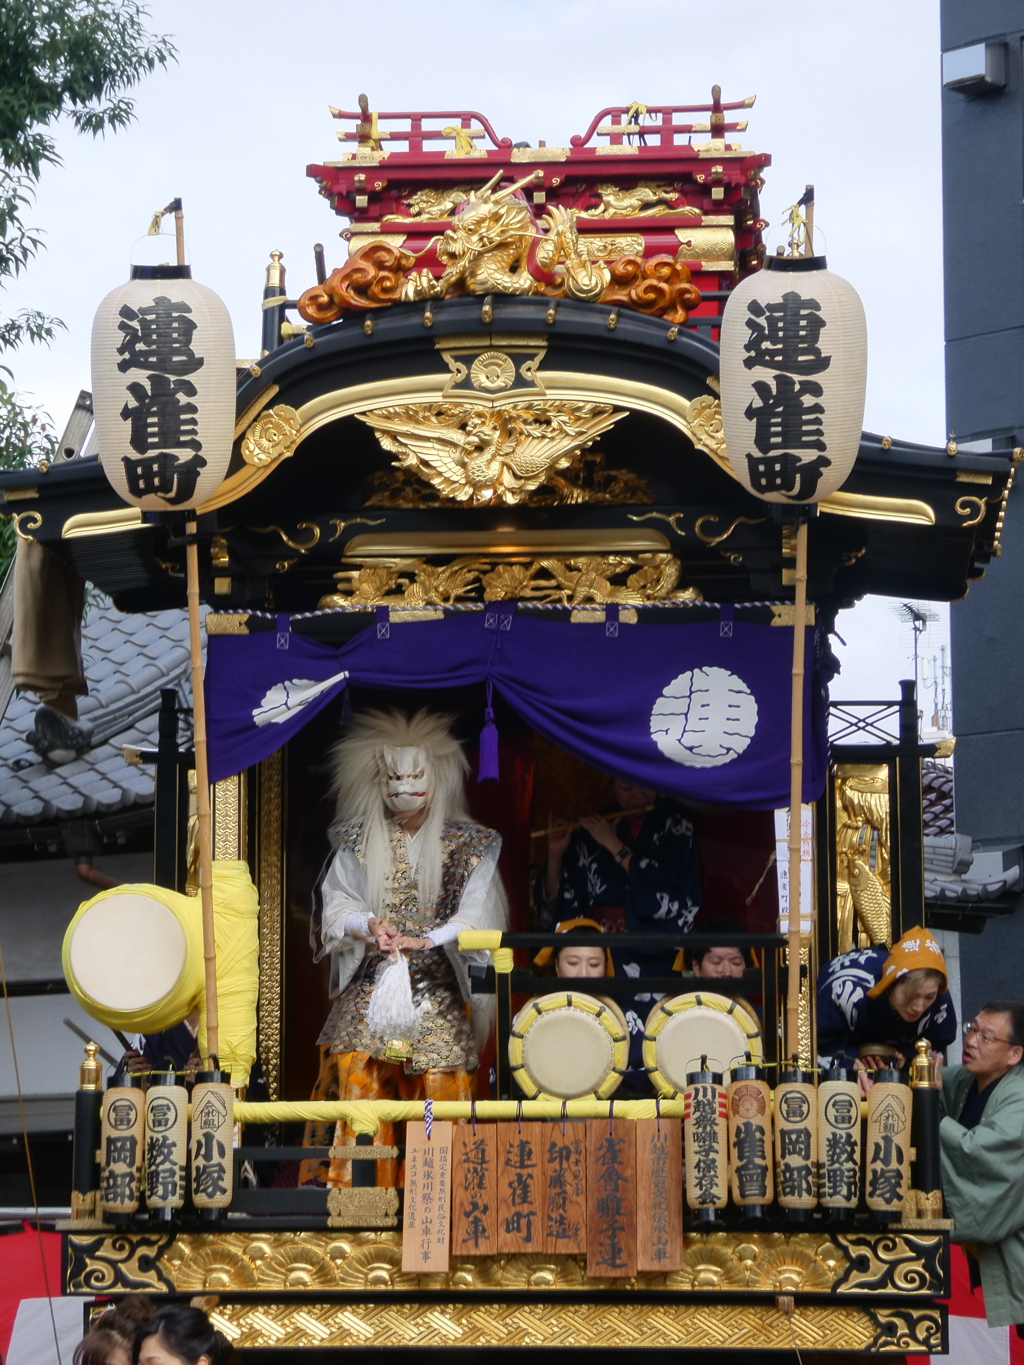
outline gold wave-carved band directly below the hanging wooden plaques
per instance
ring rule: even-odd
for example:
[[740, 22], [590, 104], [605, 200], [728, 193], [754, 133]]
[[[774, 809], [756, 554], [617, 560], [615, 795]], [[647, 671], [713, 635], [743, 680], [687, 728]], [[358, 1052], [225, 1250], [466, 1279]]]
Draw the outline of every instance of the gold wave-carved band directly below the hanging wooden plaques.
[[401, 1234], [392, 1231], [71, 1233], [67, 1289], [75, 1294], [628, 1289], [927, 1298], [945, 1293], [943, 1234], [687, 1233], [681, 1269], [609, 1282], [587, 1275], [586, 1256], [543, 1253], [453, 1257], [446, 1274], [407, 1274]]

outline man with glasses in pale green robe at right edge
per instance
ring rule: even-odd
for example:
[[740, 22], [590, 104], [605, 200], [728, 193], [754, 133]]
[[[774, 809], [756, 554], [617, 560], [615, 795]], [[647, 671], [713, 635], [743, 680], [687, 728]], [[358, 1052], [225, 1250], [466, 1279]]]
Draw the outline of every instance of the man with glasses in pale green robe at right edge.
[[[939, 1070], [942, 1193], [980, 1269], [990, 1327], [1024, 1335], [1024, 1005], [990, 1001], [964, 1025], [964, 1065]], [[938, 1070], [938, 1067], [937, 1067]]]

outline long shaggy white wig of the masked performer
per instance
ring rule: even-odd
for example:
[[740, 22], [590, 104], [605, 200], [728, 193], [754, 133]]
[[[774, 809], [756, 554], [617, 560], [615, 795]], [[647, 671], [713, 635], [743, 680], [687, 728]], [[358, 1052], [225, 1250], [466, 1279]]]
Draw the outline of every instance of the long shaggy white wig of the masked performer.
[[335, 818], [359, 820], [363, 826], [367, 908], [371, 915], [381, 913], [385, 880], [390, 872], [390, 822], [381, 800], [381, 781], [386, 774], [385, 748], [423, 749], [430, 760], [430, 796], [416, 864], [421, 908], [434, 905], [441, 893], [441, 830], [448, 820], [470, 819], [463, 786], [470, 764], [452, 734], [453, 721], [453, 715], [427, 710], [415, 715], [362, 711], [352, 717], [332, 751]]

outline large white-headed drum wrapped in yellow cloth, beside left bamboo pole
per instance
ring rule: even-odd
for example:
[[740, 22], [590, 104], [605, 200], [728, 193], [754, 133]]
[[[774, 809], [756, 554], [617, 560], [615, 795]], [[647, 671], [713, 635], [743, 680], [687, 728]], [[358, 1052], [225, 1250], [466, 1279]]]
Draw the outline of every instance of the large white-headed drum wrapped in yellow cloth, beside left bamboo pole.
[[203, 992], [199, 901], [119, 886], [79, 905], [64, 934], [64, 979], [94, 1020], [126, 1033], [179, 1024]]

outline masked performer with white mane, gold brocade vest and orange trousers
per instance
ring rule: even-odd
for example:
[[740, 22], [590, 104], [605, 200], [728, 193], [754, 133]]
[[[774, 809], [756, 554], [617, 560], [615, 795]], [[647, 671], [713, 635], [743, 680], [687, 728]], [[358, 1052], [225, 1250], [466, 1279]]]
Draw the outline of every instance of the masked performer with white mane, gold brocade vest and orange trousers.
[[[501, 838], [468, 818], [468, 764], [449, 719], [367, 711], [350, 722], [335, 751], [337, 850], [311, 934], [317, 960], [330, 954], [335, 998], [318, 1039], [317, 1100], [466, 1100], [475, 1093], [493, 1002], [475, 996], [467, 1007], [467, 968], [486, 954], [460, 953], [456, 939], [461, 930], [505, 928], [507, 909], [497, 875]], [[374, 1001], [399, 953], [412, 994], [414, 1021], [404, 1037], [381, 1032], [380, 990]], [[389, 1127], [378, 1143], [393, 1141]], [[340, 1123], [306, 1129], [307, 1147], [351, 1141]], [[378, 1162], [380, 1185], [395, 1185], [396, 1177], [396, 1163]], [[306, 1162], [300, 1179], [350, 1183], [351, 1163]]]

